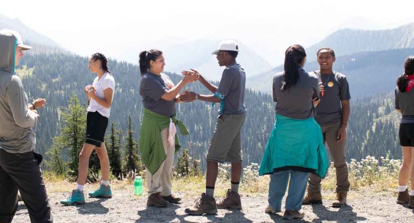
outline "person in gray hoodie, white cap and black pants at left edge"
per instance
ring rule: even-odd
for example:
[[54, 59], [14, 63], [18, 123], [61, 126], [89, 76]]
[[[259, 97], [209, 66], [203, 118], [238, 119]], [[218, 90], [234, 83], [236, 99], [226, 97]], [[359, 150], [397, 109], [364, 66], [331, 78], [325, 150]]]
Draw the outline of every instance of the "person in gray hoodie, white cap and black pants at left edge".
[[[39, 114], [28, 104], [15, 66], [23, 57], [24, 45], [13, 30], [0, 30], [0, 222], [10, 223], [17, 210], [17, 190], [32, 223], [52, 223], [49, 200], [40, 162], [34, 152], [33, 126]], [[31, 110], [33, 109], [33, 110]]]

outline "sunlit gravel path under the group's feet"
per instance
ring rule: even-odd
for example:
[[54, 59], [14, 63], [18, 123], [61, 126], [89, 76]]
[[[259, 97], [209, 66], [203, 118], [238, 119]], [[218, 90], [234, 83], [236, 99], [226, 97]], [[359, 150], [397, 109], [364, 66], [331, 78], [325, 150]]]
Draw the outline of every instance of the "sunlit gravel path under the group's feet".
[[[168, 208], [147, 208], [147, 197], [136, 198], [130, 191], [114, 191], [111, 199], [86, 198], [86, 204], [78, 206], [61, 206], [59, 201], [69, 193], [49, 193], [54, 222], [56, 223], [284, 223], [282, 214], [264, 214], [267, 205], [266, 194], [254, 197], [242, 197], [242, 211], [219, 210], [216, 216], [187, 216], [186, 207], [192, 206], [196, 198], [186, 194], [181, 205]], [[332, 192], [325, 192], [325, 197], [332, 198]], [[414, 212], [407, 206], [397, 205], [396, 197], [389, 193], [350, 192], [348, 206], [331, 208], [331, 201], [324, 200], [323, 205], [303, 206], [306, 216], [304, 221], [310, 223], [414, 223]], [[282, 206], [284, 207], [284, 205]], [[13, 223], [30, 222], [27, 209], [20, 204]]]

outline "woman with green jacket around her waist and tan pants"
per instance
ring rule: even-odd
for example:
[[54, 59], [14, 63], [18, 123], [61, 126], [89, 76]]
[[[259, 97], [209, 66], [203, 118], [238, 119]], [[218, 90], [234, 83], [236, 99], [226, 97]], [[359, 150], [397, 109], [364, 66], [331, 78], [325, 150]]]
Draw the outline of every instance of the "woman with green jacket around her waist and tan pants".
[[188, 134], [184, 123], [176, 119], [175, 103], [179, 103], [179, 92], [188, 83], [196, 81], [198, 75], [190, 73], [174, 85], [164, 73], [165, 60], [159, 50], [140, 53], [140, 95], [144, 105], [140, 131], [141, 158], [147, 167], [148, 206], [166, 207], [178, 204], [181, 198], [171, 192], [171, 171], [174, 154], [180, 148], [176, 127], [180, 133]]

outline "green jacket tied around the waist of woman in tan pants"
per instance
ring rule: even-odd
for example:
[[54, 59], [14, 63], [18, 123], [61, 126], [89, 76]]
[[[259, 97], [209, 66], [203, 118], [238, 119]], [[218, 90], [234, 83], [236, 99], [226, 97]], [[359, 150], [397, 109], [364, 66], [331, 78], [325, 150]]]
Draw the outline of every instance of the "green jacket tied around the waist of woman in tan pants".
[[[188, 135], [188, 129], [184, 123], [177, 120], [175, 115], [171, 117], [174, 124], [178, 125], [182, 135]], [[166, 159], [161, 131], [169, 126], [169, 117], [144, 109], [140, 131], [141, 159], [147, 169], [156, 173]], [[177, 133], [175, 134], [175, 152], [181, 148]]]

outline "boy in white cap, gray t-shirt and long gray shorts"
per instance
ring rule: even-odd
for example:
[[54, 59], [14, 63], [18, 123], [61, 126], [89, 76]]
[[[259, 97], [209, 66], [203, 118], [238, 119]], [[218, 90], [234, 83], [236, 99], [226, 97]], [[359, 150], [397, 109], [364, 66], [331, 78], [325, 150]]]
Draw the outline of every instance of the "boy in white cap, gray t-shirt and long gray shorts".
[[[212, 85], [200, 75], [199, 81], [213, 94], [199, 95], [186, 92], [181, 95], [183, 102], [196, 99], [220, 103], [221, 108], [217, 118], [216, 129], [210, 141], [207, 154], [206, 192], [201, 195], [199, 202], [193, 208], [187, 208], [189, 215], [216, 214], [217, 208], [241, 209], [242, 203], [239, 195], [239, 182], [242, 172], [241, 129], [246, 117], [244, 105], [246, 73], [236, 62], [239, 47], [233, 40], [223, 41], [219, 48], [213, 52], [220, 66], [226, 66], [218, 87]], [[192, 70], [199, 75], [198, 71]], [[188, 71], [182, 72], [187, 75]], [[218, 163], [232, 163], [231, 189], [227, 191], [226, 198], [216, 204], [214, 199], [214, 186], [216, 184]]]

